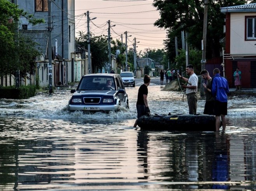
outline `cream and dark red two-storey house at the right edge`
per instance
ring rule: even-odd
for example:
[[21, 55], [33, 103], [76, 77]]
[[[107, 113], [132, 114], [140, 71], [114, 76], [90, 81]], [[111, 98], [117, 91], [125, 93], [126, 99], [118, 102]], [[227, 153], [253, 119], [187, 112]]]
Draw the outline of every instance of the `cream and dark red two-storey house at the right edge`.
[[234, 87], [233, 73], [242, 71], [242, 88], [256, 88], [256, 3], [222, 7], [226, 14], [224, 74]]

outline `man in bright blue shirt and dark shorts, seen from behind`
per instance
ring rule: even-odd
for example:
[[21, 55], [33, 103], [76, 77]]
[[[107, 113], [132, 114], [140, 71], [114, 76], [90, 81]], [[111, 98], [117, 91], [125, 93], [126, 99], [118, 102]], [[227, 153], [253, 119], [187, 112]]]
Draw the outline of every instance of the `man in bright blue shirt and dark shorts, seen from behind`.
[[228, 113], [228, 81], [226, 78], [219, 75], [219, 69], [213, 70], [214, 77], [212, 78], [212, 96], [215, 99], [214, 102], [214, 115], [216, 115], [216, 131], [219, 131], [219, 127], [222, 120], [223, 131], [226, 129], [225, 115]]

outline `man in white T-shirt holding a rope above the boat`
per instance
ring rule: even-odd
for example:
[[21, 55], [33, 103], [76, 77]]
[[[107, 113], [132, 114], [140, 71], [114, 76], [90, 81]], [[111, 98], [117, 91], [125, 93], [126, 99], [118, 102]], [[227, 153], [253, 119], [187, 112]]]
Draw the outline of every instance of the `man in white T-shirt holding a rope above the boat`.
[[186, 74], [189, 75], [189, 78], [183, 77], [179, 74], [178, 74], [178, 77], [188, 83], [187, 85], [182, 85], [181, 87], [186, 88], [189, 114], [196, 114], [197, 100], [198, 100], [198, 96], [197, 96], [198, 77], [194, 73], [193, 65], [191, 64], [187, 65]]

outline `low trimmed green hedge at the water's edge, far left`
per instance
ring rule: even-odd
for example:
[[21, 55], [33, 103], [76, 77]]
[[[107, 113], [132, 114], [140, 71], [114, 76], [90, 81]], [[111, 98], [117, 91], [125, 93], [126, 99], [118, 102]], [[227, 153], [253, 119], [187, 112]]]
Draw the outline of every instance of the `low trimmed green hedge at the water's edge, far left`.
[[16, 88], [15, 86], [0, 87], [0, 98], [27, 99], [35, 96], [36, 86], [28, 85]]

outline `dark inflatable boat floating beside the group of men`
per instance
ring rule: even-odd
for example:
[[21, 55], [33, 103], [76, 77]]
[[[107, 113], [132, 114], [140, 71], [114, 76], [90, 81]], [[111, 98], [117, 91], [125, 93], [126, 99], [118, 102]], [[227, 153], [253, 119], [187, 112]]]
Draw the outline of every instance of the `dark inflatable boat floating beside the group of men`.
[[204, 114], [144, 115], [137, 125], [153, 131], [216, 131], [216, 117]]

